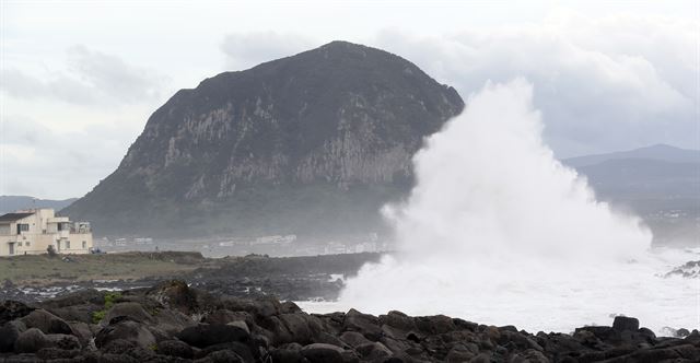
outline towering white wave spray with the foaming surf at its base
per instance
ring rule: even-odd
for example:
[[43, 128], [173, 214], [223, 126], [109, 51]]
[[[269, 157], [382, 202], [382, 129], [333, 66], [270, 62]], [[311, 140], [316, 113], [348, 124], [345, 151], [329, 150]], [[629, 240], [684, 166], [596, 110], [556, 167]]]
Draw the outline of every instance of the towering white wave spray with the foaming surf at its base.
[[410, 197], [384, 209], [397, 254], [349, 279], [336, 309], [533, 331], [609, 325], [615, 314], [656, 331], [697, 325], [692, 284], [656, 276], [686, 256], [652, 253], [638, 218], [595, 200], [542, 142], [532, 98], [525, 80], [489, 83], [427, 140]]

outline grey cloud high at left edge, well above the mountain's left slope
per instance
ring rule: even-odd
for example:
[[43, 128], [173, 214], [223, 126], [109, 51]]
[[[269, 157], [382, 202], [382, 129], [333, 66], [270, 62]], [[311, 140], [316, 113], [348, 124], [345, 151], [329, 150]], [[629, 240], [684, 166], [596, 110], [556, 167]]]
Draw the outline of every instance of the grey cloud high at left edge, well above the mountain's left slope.
[[159, 98], [167, 78], [128, 65], [117, 56], [84, 46], [68, 49], [69, 71], [44, 78], [18, 69], [2, 70], [0, 89], [19, 98], [57, 99], [79, 105], [133, 104]]

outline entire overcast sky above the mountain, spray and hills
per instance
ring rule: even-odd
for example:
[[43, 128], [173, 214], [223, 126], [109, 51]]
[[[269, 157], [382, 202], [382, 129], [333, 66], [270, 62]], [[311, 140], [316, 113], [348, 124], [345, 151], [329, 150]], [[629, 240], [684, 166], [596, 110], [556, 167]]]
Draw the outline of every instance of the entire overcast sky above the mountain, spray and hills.
[[700, 144], [698, 1], [0, 3], [0, 195], [83, 196], [175, 91], [334, 39], [465, 99], [526, 78], [559, 157]]

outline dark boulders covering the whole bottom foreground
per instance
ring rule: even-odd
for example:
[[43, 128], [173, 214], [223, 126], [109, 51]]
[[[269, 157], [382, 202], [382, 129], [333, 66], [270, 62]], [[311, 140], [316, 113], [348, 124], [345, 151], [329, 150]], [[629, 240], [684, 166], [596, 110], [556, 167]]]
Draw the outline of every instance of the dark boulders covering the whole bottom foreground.
[[443, 315], [310, 315], [182, 281], [0, 303], [0, 362], [697, 362], [700, 333], [686, 333], [657, 338], [628, 317], [533, 335]]

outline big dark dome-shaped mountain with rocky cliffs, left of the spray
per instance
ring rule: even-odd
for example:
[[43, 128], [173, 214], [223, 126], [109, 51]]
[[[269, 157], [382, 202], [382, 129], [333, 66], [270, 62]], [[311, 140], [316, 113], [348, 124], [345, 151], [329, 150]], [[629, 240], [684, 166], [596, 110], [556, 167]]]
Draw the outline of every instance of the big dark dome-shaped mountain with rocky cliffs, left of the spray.
[[177, 92], [65, 213], [104, 234], [364, 229], [410, 187], [422, 138], [463, 107], [409, 61], [334, 42]]

